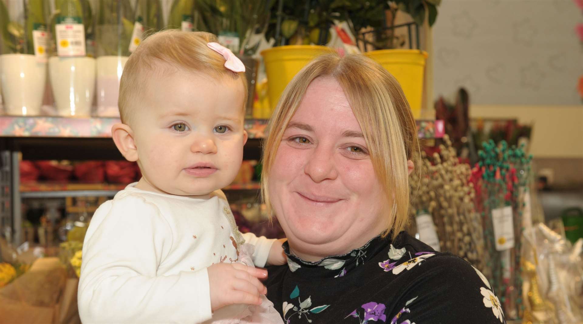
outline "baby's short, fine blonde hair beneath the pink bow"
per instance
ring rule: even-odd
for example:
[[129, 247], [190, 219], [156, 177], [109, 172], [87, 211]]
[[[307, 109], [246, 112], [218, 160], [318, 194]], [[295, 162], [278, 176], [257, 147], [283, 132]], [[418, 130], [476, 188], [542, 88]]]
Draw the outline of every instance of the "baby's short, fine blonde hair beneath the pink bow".
[[[217, 42], [217, 37], [202, 31], [187, 32], [165, 30], [146, 38], [129, 56], [120, 80], [121, 121], [128, 124], [136, 113], [146, 78], [152, 78], [154, 72], [189, 71], [202, 73], [212, 78], [229, 77], [240, 79], [245, 89], [242, 111], [247, 104], [247, 78], [245, 72], [233, 72], [224, 67], [225, 59], [206, 44]], [[215, 96], [217, 94], [210, 94]]]

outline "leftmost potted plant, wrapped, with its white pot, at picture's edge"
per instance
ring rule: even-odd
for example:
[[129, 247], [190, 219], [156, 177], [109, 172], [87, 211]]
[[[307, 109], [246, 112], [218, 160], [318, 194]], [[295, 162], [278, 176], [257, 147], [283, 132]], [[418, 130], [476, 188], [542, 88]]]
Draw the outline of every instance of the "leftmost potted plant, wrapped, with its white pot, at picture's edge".
[[47, 75], [45, 4], [0, 0], [0, 79], [9, 115], [40, 114]]

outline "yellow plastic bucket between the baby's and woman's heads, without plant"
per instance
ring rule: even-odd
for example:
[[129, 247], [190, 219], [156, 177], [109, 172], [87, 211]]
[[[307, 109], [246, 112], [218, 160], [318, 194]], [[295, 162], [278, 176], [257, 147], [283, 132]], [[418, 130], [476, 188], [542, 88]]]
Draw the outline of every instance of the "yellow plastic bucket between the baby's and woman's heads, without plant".
[[313, 58], [331, 53], [331, 48], [319, 45], [286, 45], [261, 51], [267, 73], [269, 105], [275, 109], [287, 83]]

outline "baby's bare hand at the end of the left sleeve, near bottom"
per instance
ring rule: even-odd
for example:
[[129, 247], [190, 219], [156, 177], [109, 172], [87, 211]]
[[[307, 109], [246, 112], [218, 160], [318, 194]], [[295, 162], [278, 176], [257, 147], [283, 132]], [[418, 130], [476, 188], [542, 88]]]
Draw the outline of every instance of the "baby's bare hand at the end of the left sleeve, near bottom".
[[207, 268], [209, 273], [210, 308], [230, 304], [261, 304], [259, 295], [267, 288], [257, 278], [267, 277], [267, 271], [241, 263], [216, 263]]

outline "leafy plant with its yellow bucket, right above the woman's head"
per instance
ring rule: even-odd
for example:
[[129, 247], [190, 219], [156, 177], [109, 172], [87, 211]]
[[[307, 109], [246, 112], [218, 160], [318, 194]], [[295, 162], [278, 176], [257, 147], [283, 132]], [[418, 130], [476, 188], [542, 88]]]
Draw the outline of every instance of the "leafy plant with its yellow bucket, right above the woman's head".
[[[379, 62], [401, 83], [405, 97], [415, 118], [420, 118], [423, 94], [423, 79], [427, 52], [419, 50], [419, 33], [417, 49], [403, 49], [405, 36], [398, 34], [399, 28], [409, 31], [409, 43], [412, 43], [413, 27], [415, 30], [426, 20], [433, 26], [437, 17], [437, 6], [441, 0], [369, 0], [336, 1], [336, 9], [347, 20], [352, 33], [366, 51], [364, 54]], [[408, 13], [413, 22], [395, 24], [397, 12]], [[413, 25], [417, 26], [413, 26]], [[363, 30], [367, 30], [363, 32]], [[412, 44], [409, 44], [412, 48]]]

